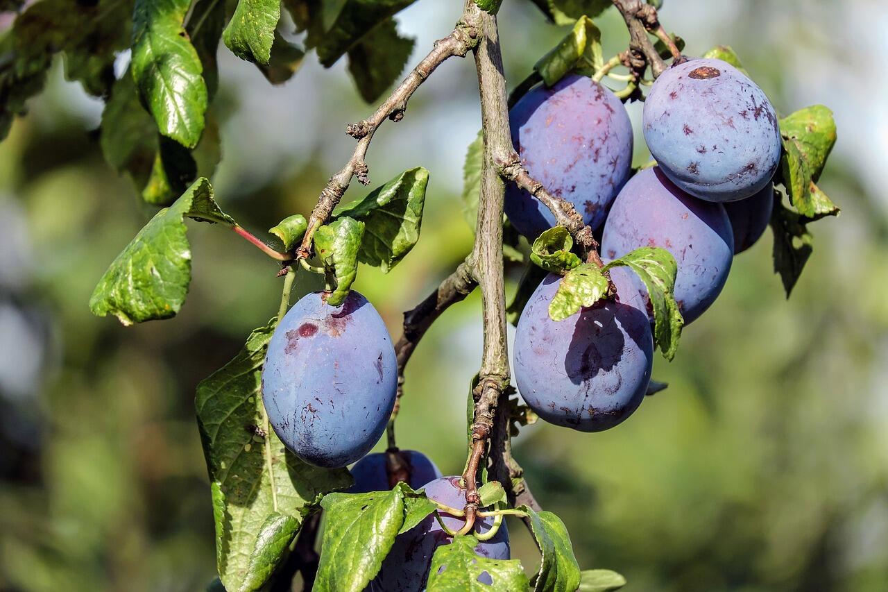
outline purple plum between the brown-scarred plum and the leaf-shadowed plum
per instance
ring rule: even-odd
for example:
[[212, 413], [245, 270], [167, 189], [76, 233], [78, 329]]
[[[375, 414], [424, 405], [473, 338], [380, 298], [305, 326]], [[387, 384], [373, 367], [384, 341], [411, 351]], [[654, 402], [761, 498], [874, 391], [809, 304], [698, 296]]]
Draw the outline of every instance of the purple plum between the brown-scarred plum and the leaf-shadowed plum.
[[615, 259], [642, 246], [662, 247], [675, 257], [673, 293], [691, 323], [716, 300], [731, 269], [733, 233], [725, 206], [689, 196], [658, 166], [639, 171], [614, 200], [601, 252]]

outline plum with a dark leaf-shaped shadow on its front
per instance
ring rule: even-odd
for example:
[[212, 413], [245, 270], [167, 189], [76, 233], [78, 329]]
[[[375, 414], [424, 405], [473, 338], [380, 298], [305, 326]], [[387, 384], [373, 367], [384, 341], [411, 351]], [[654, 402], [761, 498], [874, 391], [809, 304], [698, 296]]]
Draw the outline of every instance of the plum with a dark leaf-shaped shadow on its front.
[[515, 332], [515, 380], [543, 420], [599, 432], [641, 404], [651, 379], [654, 340], [631, 276], [628, 268], [612, 269], [619, 298], [599, 300], [563, 321], [549, 316], [561, 277], [546, 276], [527, 301]]

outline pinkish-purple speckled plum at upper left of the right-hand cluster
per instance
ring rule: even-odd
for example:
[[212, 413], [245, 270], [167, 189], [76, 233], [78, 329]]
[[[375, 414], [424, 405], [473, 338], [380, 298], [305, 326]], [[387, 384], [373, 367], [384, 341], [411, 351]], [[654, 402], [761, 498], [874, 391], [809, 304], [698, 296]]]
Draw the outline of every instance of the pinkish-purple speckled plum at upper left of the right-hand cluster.
[[[588, 76], [568, 75], [528, 92], [511, 108], [511, 140], [527, 171], [598, 228], [629, 179], [632, 124], [619, 99]], [[531, 241], [555, 226], [549, 209], [510, 183], [505, 213]]]

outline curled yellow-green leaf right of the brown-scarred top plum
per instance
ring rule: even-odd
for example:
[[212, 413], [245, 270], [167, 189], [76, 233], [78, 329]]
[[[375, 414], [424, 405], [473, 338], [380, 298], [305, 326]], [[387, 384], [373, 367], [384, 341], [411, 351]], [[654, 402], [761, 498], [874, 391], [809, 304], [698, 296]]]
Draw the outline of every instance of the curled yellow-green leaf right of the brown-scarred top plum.
[[838, 215], [836, 204], [815, 185], [836, 144], [832, 111], [822, 105], [800, 109], [781, 119], [780, 129], [781, 176], [792, 204], [812, 220]]

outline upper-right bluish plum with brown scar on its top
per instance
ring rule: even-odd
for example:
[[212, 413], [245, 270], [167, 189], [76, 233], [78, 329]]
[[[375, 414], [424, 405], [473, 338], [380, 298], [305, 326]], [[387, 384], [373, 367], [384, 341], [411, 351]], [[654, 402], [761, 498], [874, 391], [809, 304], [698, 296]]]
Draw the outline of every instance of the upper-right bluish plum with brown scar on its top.
[[645, 100], [647, 148], [692, 196], [752, 196], [780, 163], [777, 116], [760, 88], [722, 60], [690, 60], [663, 72]]

